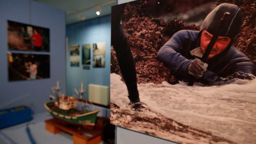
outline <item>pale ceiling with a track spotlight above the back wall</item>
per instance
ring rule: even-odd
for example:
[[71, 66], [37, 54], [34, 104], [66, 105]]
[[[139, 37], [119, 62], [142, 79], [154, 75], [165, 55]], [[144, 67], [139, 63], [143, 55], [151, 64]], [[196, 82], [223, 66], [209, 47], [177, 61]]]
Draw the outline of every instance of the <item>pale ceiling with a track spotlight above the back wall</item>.
[[[66, 11], [66, 24], [93, 19], [111, 14], [111, 6], [117, 4], [116, 0], [34, 0], [39, 3]], [[96, 11], [101, 9], [100, 15]]]

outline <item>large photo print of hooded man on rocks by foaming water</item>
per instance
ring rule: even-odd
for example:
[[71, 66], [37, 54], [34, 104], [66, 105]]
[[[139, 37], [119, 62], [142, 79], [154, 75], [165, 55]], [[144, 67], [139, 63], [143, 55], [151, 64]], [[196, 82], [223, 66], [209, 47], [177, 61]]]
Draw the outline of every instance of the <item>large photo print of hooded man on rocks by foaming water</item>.
[[112, 6], [111, 124], [184, 144], [254, 143], [253, 5], [138, 0]]

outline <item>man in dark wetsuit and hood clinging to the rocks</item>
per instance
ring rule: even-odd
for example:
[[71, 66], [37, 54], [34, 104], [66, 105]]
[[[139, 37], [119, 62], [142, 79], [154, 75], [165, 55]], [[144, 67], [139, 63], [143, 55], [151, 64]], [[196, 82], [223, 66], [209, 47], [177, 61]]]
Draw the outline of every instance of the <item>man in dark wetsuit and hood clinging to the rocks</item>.
[[[225, 12], [230, 13], [210, 52], [207, 63], [200, 61], [214, 31]], [[189, 81], [195, 76], [206, 85], [223, 84], [221, 77], [254, 79], [255, 64], [232, 46], [242, 24], [241, 9], [234, 4], [222, 3], [205, 18], [200, 31], [181, 30], [166, 42], [157, 58], [171, 68], [179, 80]], [[199, 58], [199, 59], [198, 59]]]

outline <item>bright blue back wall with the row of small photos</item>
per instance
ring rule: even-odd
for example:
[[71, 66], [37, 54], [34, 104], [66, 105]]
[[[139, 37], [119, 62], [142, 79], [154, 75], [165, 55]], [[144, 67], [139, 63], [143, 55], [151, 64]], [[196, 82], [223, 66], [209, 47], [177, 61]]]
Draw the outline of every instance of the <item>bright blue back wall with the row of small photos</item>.
[[[88, 84], [97, 84], [110, 86], [110, 43], [111, 43], [111, 16], [107, 15], [83, 22], [67, 25], [68, 54], [67, 54], [67, 94], [76, 95], [74, 88], [80, 90], [80, 83], [83, 82], [83, 88], [86, 90], [84, 95], [88, 100]], [[106, 42], [106, 61], [104, 68], [93, 67], [93, 43]], [[70, 66], [70, 46], [80, 45], [79, 67]], [[82, 45], [91, 45], [91, 64], [86, 65], [90, 70], [83, 69], [82, 65]], [[99, 112], [100, 116], [109, 117], [109, 110], [103, 109]]]

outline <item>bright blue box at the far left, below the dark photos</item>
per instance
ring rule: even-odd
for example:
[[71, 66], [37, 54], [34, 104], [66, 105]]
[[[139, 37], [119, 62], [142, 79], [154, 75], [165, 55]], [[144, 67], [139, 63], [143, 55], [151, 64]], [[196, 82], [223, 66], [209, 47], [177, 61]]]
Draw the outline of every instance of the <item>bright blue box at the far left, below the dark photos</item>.
[[0, 110], [0, 129], [32, 120], [31, 109], [16, 106]]

